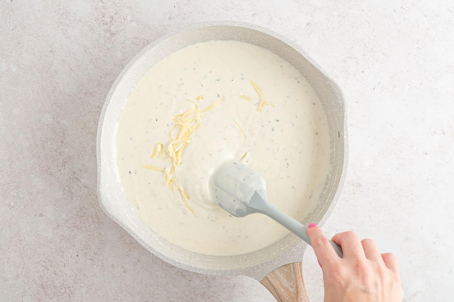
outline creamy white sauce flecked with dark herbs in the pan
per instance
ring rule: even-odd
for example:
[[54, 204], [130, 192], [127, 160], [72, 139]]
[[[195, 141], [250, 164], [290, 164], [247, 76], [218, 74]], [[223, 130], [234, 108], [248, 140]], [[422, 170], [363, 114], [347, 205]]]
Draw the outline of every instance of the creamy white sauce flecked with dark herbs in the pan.
[[[257, 112], [251, 80], [275, 107]], [[172, 160], [150, 155], [156, 143], [168, 147], [173, 117], [199, 95], [199, 108], [224, 100], [202, 114], [177, 167], [192, 213], [178, 190], [164, 186], [162, 172], [143, 165], [170, 168]], [[268, 199], [296, 220], [318, 202], [331, 168], [326, 116], [315, 91], [286, 60], [243, 42], [203, 42], [162, 59], [132, 89], [118, 122], [118, 173], [129, 203], [159, 236], [217, 256], [253, 252], [283, 238], [289, 231], [271, 218], [232, 217], [213, 202], [212, 172], [240, 158], [265, 178]]]

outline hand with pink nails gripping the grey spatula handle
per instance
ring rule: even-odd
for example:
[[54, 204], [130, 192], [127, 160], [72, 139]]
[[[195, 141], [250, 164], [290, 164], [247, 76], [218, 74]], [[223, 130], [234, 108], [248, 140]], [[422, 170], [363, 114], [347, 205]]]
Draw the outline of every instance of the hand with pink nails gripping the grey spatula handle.
[[316, 224], [307, 228], [312, 248], [323, 271], [325, 302], [401, 302], [397, 258], [380, 254], [371, 239], [360, 241], [353, 232], [336, 234], [331, 240], [342, 247], [340, 258]]

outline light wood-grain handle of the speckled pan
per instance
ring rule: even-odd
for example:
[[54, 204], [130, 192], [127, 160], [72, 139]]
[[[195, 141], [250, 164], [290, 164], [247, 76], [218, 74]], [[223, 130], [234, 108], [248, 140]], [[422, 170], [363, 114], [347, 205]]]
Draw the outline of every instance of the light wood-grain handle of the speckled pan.
[[260, 281], [277, 302], [310, 302], [303, 280], [303, 263], [276, 268]]

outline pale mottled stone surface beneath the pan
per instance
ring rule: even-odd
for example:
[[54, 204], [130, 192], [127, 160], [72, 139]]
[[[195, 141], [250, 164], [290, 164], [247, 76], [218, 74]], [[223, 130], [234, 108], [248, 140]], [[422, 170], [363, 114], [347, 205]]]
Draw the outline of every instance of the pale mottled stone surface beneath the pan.
[[[350, 164], [323, 229], [395, 252], [404, 301], [451, 300], [452, 1], [123, 2], [0, 1], [0, 301], [274, 301], [248, 277], [168, 265], [97, 203], [111, 84], [150, 41], [205, 20], [268, 27], [331, 74], [349, 102]], [[304, 262], [322, 301], [311, 249]]]

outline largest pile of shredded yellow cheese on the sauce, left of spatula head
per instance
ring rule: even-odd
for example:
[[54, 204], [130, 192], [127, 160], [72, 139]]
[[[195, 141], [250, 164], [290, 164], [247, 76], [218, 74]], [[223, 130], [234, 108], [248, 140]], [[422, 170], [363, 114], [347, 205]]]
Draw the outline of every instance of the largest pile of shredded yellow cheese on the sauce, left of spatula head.
[[[172, 121], [175, 123], [170, 128], [170, 143], [168, 144], [166, 157], [164, 157], [164, 144], [158, 143], [154, 146], [153, 153], [151, 154], [151, 158], [154, 158], [156, 154], [158, 154], [159, 158], [162, 158], [163, 162], [167, 161], [168, 159], [172, 160], [172, 166], [170, 169], [160, 168], [151, 165], [143, 165], [144, 168], [162, 172], [164, 173], [164, 184], [168, 186], [173, 191], [173, 185], [175, 185], [178, 191], [183, 198], [183, 202], [188, 207], [192, 213], [195, 213], [194, 210], [189, 206], [188, 201], [190, 200], [188, 193], [184, 190], [184, 188], [178, 183], [177, 180], [177, 167], [179, 164], [182, 164], [182, 157], [183, 152], [188, 146], [189, 142], [192, 141], [191, 135], [197, 130], [198, 126], [200, 125], [200, 121], [202, 117], [200, 114], [207, 112], [219, 104], [224, 100], [224, 96], [220, 97], [216, 102], [212, 103], [211, 105], [207, 106], [204, 109], [199, 110], [197, 104], [203, 99], [202, 95], [199, 95], [195, 98], [196, 102], [191, 101], [194, 103], [194, 106], [188, 109], [186, 112], [182, 114], [177, 114], [173, 117]], [[236, 123], [236, 122], [235, 122]], [[175, 129], [178, 127], [178, 134], [175, 137]], [[238, 125], [239, 127], [239, 125]], [[241, 130], [241, 128], [240, 128]], [[241, 130], [242, 131], [242, 130]], [[244, 134], [243, 134], [244, 136]]]

